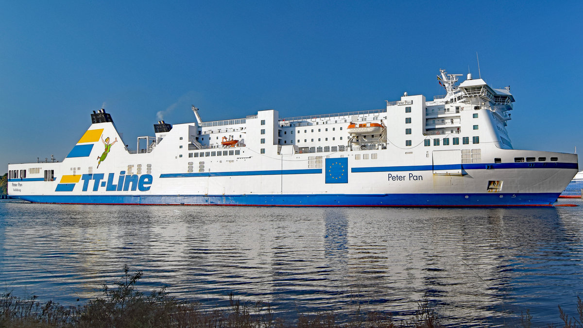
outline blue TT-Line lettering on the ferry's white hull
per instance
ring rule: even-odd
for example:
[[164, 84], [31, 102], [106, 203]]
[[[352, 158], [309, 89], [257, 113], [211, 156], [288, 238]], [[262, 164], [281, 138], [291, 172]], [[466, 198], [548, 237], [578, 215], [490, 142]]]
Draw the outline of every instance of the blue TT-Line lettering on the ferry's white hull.
[[104, 173], [82, 175], [82, 191], [87, 191], [92, 181], [93, 191], [103, 190], [103, 188], [106, 191], [136, 191], [136, 189], [139, 191], [148, 191], [150, 190], [150, 184], [154, 180], [152, 175], [126, 175], [125, 171], [120, 172], [117, 178], [117, 184], [115, 184], [115, 173], [108, 173], [107, 181], [104, 177]]

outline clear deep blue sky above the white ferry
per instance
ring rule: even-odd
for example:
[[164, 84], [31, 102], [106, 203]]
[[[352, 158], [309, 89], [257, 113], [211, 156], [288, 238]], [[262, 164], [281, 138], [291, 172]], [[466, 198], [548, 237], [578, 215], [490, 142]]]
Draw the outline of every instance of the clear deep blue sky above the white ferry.
[[[438, 69], [511, 86], [516, 149], [583, 152], [582, 1], [4, 1], [0, 173], [58, 160], [111, 113], [167, 123], [381, 109]], [[580, 160], [580, 164], [582, 161]], [[581, 165], [580, 165], [581, 166]], [[581, 166], [583, 167], [583, 166]]]

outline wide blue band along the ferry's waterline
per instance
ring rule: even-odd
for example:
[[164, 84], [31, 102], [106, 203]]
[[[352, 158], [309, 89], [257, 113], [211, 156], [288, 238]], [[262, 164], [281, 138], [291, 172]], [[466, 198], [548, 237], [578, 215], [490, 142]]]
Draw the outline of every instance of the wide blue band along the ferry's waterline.
[[247, 206], [539, 206], [552, 205], [559, 193], [522, 194], [326, 194], [326, 195], [143, 195], [12, 196], [36, 203]]

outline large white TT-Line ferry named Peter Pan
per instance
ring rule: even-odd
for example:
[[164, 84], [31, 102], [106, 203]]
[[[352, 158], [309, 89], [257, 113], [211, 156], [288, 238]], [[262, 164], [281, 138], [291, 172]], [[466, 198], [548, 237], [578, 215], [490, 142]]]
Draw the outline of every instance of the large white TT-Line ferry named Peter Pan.
[[[553, 205], [577, 155], [518, 150], [514, 97], [481, 79], [404, 93], [378, 110], [154, 124], [129, 146], [105, 110], [62, 162], [9, 165], [10, 196], [35, 203], [253, 206]], [[83, 132], [83, 133], [81, 133]], [[47, 136], [48, 137], [48, 136]]]

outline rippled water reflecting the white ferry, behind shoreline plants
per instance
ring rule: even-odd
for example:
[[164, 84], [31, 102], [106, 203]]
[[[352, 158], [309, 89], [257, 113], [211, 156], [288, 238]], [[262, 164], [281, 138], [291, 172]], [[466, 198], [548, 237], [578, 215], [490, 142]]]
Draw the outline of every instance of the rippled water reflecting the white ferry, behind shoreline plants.
[[[583, 205], [581, 200], [560, 203]], [[583, 296], [583, 206], [257, 208], [0, 203], [0, 282], [86, 301], [122, 266], [139, 285], [279, 315], [409, 316], [427, 298], [451, 324], [559, 323]]]

